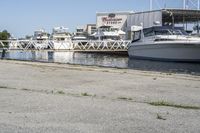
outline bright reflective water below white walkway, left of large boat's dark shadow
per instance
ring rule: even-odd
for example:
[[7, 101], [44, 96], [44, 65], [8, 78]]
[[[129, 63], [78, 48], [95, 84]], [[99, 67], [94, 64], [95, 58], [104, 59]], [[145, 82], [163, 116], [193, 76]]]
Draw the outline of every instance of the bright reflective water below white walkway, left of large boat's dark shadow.
[[6, 58], [16, 60], [46, 61], [82, 65], [97, 65], [105, 67], [128, 67], [128, 58], [117, 55], [79, 53], [79, 52], [51, 52], [51, 51], [10, 51]]

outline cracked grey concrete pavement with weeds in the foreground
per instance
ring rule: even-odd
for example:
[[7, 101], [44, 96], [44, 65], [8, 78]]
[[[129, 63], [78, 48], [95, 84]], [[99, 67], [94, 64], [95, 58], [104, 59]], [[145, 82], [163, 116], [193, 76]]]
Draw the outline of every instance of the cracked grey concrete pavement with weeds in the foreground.
[[7, 60], [0, 66], [2, 133], [200, 132], [200, 110], [146, 103], [200, 106], [199, 76]]

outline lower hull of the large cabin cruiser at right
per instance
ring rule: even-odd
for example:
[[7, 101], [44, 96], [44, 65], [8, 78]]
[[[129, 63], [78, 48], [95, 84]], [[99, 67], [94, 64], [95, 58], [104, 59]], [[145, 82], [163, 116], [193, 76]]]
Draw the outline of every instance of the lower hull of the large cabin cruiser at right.
[[160, 61], [200, 62], [200, 44], [131, 44], [128, 48], [128, 54], [130, 58]]

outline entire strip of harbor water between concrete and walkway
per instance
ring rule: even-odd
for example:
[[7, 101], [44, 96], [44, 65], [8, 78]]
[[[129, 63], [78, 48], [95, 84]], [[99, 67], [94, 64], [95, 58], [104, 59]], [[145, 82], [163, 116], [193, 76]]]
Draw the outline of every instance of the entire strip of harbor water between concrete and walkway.
[[[2, 55], [2, 53], [0, 53]], [[200, 75], [200, 63], [161, 62], [129, 59], [128, 55], [60, 51], [9, 51], [5, 59], [92, 65], [145, 71]]]

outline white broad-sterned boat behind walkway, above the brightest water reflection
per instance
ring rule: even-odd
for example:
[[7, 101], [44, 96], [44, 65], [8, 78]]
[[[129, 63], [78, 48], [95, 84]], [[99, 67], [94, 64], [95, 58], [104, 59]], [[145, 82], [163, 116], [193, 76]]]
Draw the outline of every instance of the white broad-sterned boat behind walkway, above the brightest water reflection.
[[52, 33], [54, 49], [72, 49], [71, 36], [65, 27], [55, 27]]

